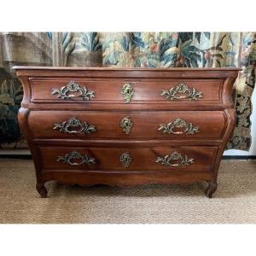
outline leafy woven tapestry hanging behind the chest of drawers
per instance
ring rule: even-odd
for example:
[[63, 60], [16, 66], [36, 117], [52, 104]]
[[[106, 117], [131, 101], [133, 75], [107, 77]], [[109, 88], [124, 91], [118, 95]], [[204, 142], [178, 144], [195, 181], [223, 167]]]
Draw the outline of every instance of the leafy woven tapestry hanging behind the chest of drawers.
[[17, 113], [14, 65], [55, 67], [241, 67], [236, 128], [228, 148], [250, 148], [256, 32], [1, 32], [0, 148], [27, 148]]

